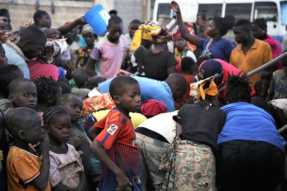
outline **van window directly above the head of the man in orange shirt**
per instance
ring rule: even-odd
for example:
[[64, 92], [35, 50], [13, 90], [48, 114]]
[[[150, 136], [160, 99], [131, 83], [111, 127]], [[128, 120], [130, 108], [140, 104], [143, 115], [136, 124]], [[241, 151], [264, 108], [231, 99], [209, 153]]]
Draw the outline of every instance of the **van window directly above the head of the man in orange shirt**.
[[226, 3], [225, 15], [233, 15], [236, 20], [247, 19], [250, 21], [251, 3]]

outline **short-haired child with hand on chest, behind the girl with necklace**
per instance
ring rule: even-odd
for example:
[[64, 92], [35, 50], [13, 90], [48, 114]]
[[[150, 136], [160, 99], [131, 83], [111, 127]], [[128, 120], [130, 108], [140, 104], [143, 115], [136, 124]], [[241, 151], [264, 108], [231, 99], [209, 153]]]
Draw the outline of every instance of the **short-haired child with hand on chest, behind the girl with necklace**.
[[57, 99], [56, 105], [66, 109], [71, 117], [71, 136], [67, 143], [73, 145], [77, 151], [83, 151], [80, 158], [82, 159], [86, 177], [88, 177], [90, 173], [90, 144], [84, 127], [78, 123], [83, 109], [83, 101], [77, 94], [68, 93], [62, 94]]

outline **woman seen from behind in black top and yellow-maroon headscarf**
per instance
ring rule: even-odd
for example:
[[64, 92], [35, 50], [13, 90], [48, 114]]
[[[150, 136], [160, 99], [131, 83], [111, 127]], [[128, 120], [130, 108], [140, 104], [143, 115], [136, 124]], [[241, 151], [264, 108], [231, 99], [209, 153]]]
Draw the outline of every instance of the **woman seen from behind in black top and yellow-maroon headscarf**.
[[167, 42], [172, 40], [172, 35], [166, 29], [159, 28], [151, 31], [154, 49], [144, 53], [144, 73], [147, 78], [164, 81], [175, 73], [175, 60], [173, 53], [168, 51]]

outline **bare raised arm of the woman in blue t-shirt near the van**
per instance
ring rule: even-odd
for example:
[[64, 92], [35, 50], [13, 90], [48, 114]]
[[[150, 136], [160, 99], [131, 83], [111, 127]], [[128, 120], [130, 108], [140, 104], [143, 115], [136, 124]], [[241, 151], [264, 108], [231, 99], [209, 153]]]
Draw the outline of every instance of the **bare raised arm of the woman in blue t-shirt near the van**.
[[177, 13], [177, 23], [179, 25], [179, 31], [180, 31], [181, 36], [185, 40], [190, 42], [191, 44], [194, 44], [195, 46], [201, 46], [200, 38], [189, 34], [189, 32], [187, 31], [187, 29], [186, 29], [186, 27], [185, 27], [185, 25], [183, 23], [183, 20], [182, 20], [182, 17], [181, 17], [181, 12], [180, 12], [179, 5], [177, 4], [177, 2], [171, 1], [170, 8], [172, 10], [174, 10], [174, 12]]

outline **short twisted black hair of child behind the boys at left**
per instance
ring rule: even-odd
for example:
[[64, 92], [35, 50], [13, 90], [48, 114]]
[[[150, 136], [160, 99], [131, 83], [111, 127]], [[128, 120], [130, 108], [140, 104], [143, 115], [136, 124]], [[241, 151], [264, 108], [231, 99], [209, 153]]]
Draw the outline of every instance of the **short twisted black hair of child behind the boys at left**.
[[60, 87], [60, 85], [50, 76], [46, 78], [45, 76], [40, 76], [33, 80], [37, 88], [38, 93], [38, 103], [44, 104], [49, 95], [55, 95]]

